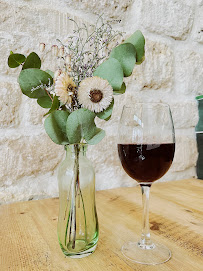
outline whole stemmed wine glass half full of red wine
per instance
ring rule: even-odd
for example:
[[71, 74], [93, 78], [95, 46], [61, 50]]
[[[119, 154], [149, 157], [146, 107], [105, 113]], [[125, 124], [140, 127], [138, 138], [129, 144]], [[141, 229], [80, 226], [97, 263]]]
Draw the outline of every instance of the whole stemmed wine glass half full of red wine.
[[160, 264], [171, 258], [170, 250], [153, 243], [149, 232], [149, 193], [152, 183], [170, 168], [175, 152], [175, 132], [170, 107], [163, 103], [124, 106], [118, 154], [126, 173], [141, 186], [143, 228], [138, 242], [123, 245], [122, 253], [141, 264]]

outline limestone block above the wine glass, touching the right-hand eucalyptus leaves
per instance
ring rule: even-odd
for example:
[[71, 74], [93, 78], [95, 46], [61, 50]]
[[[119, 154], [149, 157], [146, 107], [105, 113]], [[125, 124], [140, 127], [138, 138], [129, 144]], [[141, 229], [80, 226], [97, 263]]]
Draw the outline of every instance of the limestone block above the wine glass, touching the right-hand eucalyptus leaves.
[[[173, 83], [173, 52], [163, 43], [146, 40], [145, 61], [127, 81], [140, 89], [166, 89]], [[136, 81], [135, 81], [136, 80]]]

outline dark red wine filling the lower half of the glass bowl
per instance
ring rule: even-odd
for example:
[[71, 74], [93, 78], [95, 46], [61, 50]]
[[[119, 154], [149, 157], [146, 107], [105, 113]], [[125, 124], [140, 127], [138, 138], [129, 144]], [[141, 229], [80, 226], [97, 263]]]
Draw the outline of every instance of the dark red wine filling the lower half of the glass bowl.
[[154, 182], [170, 168], [175, 144], [118, 144], [126, 173], [140, 183]]

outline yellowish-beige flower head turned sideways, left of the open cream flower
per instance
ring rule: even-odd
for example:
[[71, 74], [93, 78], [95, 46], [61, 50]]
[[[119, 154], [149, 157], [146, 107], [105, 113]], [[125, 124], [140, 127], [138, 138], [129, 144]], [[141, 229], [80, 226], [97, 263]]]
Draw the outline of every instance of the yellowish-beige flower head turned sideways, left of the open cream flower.
[[76, 92], [76, 85], [67, 73], [61, 73], [55, 83], [55, 93], [63, 104], [70, 105], [73, 95]]

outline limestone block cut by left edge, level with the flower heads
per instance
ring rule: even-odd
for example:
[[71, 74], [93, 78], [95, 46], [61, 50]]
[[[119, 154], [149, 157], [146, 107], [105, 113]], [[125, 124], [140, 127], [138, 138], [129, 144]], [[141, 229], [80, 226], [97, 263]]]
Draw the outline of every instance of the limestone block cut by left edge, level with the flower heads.
[[19, 124], [21, 97], [17, 83], [0, 81], [0, 127], [14, 127]]

